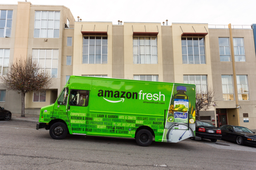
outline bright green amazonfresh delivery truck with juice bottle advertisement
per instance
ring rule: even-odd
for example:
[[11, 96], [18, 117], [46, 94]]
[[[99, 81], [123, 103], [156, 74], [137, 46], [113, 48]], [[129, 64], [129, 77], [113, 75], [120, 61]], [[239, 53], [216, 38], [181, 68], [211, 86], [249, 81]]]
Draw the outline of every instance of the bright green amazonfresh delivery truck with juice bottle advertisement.
[[72, 75], [54, 104], [41, 108], [37, 130], [135, 138], [138, 145], [195, 138], [196, 86]]

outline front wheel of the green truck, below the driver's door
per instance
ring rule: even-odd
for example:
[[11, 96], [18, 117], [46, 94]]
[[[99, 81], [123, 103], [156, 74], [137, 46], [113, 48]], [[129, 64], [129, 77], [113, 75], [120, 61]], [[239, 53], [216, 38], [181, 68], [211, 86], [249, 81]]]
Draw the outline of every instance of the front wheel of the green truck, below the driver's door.
[[54, 123], [50, 127], [50, 136], [53, 139], [64, 139], [64, 137], [66, 137], [67, 134], [68, 127], [62, 122]]

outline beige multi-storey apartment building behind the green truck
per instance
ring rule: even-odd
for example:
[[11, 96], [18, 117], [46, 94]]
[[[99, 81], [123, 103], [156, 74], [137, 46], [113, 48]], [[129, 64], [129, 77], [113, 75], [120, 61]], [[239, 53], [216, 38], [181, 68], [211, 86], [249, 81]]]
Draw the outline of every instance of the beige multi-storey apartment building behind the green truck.
[[[256, 130], [256, 51], [250, 25], [113, 25], [75, 21], [65, 6], [30, 2], [0, 5], [0, 10], [0, 20], [5, 16], [5, 26], [0, 21], [1, 74], [15, 58], [29, 55], [52, 73], [51, 89], [26, 95], [27, 113], [39, 115], [42, 106], [55, 102], [70, 75], [101, 76], [196, 84], [202, 93], [212, 87], [218, 102], [200, 112], [201, 120]], [[20, 95], [1, 88], [0, 106], [20, 113]]]

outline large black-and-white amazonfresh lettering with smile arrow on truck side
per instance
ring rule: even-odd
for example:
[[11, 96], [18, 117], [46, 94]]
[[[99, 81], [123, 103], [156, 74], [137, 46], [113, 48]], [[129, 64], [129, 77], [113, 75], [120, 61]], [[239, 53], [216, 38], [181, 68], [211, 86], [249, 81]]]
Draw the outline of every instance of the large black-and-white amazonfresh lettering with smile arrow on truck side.
[[121, 98], [117, 101], [107, 100], [112, 103], [117, 102], [123, 102], [125, 98], [127, 99], [139, 99], [139, 100], [155, 100], [155, 101], [165, 101], [165, 95], [161, 94], [151, 94], [151, 93], [144, 93], [143, 90], [140, 90], [139, 93], [137, 92], [129, 92], [129, 91], [115, 91], [112, 90], [99, 90], [98, 96], [103, 97], [105, 100], [107, 100], [105, 97], [112, 97], [112, 98]]

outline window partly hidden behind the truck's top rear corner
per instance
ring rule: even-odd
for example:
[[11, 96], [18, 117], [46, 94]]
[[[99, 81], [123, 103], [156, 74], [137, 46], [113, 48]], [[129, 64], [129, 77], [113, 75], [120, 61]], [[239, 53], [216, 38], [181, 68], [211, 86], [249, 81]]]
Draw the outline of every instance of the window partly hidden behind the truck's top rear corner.
[[183, 75], [183, 83], [196, 85], [197, 93], [207, 93], [207, 75]]

